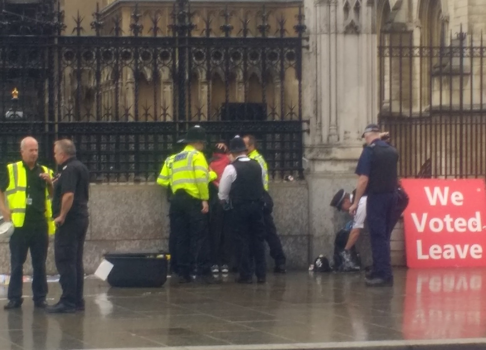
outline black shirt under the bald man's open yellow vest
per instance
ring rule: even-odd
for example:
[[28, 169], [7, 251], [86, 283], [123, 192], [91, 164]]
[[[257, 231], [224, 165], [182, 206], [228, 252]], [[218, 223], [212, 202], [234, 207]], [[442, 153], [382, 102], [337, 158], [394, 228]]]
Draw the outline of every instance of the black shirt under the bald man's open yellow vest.
[[[23, 163], [23, 162], [22, 162]], [[27, 203], [25, 208], [25, 226], [36, 226], [39, 222], [46, 222], [46, 187], [47, 184], [40, 178], [40, 174], [44, 171], [42, 166], [36, 164], [33, 169], [30, 169], [23, 163], [25, 172], [27, 174], [27, 189], [25, 196], [32, 199], [32, 204]], [[8, 175], [8, 168], [4, 168], [4, 172], [0, 174], [0, 189], [3, 193], [10, 185], [10, 177]], [[20, 167], [18, 171], [21, 171]], [[30, 202], [30, 201], [29, 201]]]

